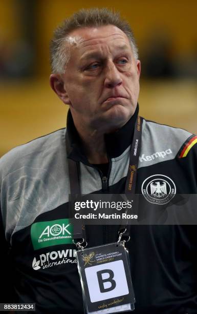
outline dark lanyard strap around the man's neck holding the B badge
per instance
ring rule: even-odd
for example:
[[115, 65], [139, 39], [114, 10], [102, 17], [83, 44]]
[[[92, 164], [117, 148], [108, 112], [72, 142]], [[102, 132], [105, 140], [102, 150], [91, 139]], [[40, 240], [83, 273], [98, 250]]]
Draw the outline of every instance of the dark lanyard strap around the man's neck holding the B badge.
[[[129, 154], [129, 166], [126, 178], [126, 185], [125, 185], [125, 195], [128, 199], [131, 197], [133, 200], [135, 199], [135, 206], [137, 206], [137, 201], [135, 198], [135, 191], [136, 191], [136, 181], [137, 181], [137, 169], [138, 169], [138, 162], [139, 162], [139, 155], [141, 149], [141, 138], [142, 138], [142, 118], [140, 116], [137, 117], [135, 123], [135, 130], [134, 130], [134, 138], [132, 142], [132, 146], [130, 148]], [[67, 155], [71, 152], [71, 145], [68, 139], [68, 134], [66, 134], [66, 143], [67, 143]], [[71, 202], [72, 205], [76, 200], [76, 195], [80, 195], [80, 169], [79, 169], [79, 162], [75, 162], [72, 159], [68, 158], [68, 166], [69, 166], [69, 179], [70, 179], [70, 189], [71, 189]], [[119, 242], [121, 238], [128, 239], [128, 234], [130, 231], [130, 226], [128, 227], [127, 224], [122, 224], [119, 228]], [[85, 243], [84, 238], [84, 228], [79, 220], [74, 221], [73, 226], [73, 242], [75, 244], [81, 245], [84, 247], [83, 243]], [[121, 237], [120, 237], [121, 236]], [[85, 237], [85, 235], [84, 235]], [[124, 240], [125, 241], [125, 240]]]

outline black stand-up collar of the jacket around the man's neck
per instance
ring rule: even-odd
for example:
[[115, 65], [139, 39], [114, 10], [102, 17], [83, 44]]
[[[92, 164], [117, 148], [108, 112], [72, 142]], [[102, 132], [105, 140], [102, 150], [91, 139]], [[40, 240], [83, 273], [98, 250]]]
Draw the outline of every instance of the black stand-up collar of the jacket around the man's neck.
[[[137, 105], [134, 115], [125, 125], [123, 125], [122, 128], [114, 133], [105, 134], [104, 139], [106, 143], [107, 154], [110, 158], [116, 158], [120, 156], [125, 151], [125, 149], [130, 144], [132, 144], [134, 137], [134, 127], [138, 112], [139, 105]], [[71, 158], [75, 161], [81, 161], [84, 164], [90, 165], [83, 151], [80, 136], [75, 128], [70, 109], [67, 115], [67, 134], [71, 146], [68, 158]]]

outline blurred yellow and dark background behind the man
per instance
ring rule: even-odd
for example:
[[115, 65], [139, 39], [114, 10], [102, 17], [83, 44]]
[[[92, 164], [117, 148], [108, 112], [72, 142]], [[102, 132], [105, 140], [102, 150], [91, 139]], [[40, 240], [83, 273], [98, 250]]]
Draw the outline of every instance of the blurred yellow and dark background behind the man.
[[119, 11], [132, 26], [142, 63], [140, 114], [197, 133], [195, 0], [1, 0], [0, 4], [0, 155], [65, 126], [68, 108], [48, 83], [49, 42], [56, 26], [82, 7]]

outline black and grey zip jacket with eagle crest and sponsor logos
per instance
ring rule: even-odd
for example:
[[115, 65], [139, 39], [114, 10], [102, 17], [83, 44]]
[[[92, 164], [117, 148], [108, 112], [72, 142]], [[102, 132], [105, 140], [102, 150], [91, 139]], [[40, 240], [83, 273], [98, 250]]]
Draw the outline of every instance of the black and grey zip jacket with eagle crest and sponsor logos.
[[[1, 303], [36, 303], [38, 314], [83, 312], [73, 226], [68, 220], [68, 158], [80, 164], [83, 194], [124, 193], [137, 114], [138, 108], [119, 131], [105, 136], [110, 159], [107, 179], [87, 161], [70, 113], [67, 129], [18, 146], [0, 160], [1, 276], [5, 277]], [[69, 156], [66, 132], [72, 146]], [[142, 220], [148, 210], [166, 209], [176, 195], [197, 194], [196, 142], [196, 136], [183, 129], [143, 119], [136, 185], [143, 199]], [[163, 196], [154, 196], [150, 183], [159, 185], [158, 191], [163, 183]], [[165, 222], [165, 210], [161, 217]], [[196, 229], [195, 225], [131, 226], [127, 248], [136, 314], [197, 313]], [[117, 230], [114, 225], [86, 226], [87, 243], [115, 242]]]

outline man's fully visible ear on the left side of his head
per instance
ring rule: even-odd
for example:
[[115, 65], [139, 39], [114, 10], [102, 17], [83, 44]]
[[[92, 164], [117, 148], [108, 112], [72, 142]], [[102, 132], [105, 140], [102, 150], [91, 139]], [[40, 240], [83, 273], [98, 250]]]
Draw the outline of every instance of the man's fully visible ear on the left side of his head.
[[64, 82], [61, 76], [59, 74], [51, 74], [49, 80], [51, 88], [58, 95], [60, 100], [65, 105], [71, 105], [71, 101], [69, 99], [67, 91], [65, 90]]

